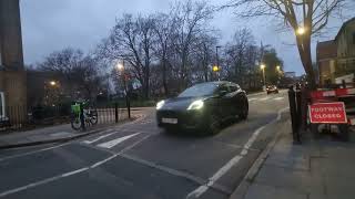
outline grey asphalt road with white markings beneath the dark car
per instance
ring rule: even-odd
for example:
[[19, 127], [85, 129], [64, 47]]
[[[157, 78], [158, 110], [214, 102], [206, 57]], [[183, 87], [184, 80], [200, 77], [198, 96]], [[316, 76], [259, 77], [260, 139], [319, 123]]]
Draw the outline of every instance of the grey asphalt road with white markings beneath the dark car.
[[1, 150], [0, 198], [229, 198], [288, 106], [286, 92], [248, 100], [248, 119], [215, 136], [165, 133], [146, 108], [139, 121], [80, 140]]

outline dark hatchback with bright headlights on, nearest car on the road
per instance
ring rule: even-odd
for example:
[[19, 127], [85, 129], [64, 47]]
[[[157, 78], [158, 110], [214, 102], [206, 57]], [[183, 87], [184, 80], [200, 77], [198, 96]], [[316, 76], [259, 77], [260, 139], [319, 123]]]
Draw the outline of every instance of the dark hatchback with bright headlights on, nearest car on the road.
[[248, 101], [245, 91], [232, 82], [195, 84], [178, 97], [156, 104], [158, 126], [196, 129], [207, 134], [219, 132], [221, 123], [239, 116], [246, 119]]

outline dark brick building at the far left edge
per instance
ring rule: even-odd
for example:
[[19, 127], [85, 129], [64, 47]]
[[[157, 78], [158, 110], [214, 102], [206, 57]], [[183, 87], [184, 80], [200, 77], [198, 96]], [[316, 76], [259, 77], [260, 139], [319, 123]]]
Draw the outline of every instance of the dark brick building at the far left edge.
[[27, 106], [19, 0], [0, 1], [0, 117], [7, 117], [8, 107]]

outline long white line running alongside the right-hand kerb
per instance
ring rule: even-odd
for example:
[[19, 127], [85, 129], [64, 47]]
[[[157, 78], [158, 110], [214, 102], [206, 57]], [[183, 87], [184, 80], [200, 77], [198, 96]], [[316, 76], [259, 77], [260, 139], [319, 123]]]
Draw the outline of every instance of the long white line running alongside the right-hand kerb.
[[210, 187], [212, 187], [223, 175], [225, 175], [232, 167], [237, 165], [243, 157], [248, 153], [248, 148], [253, 145], [253, 143], [256, 140], [258, 134], [270, 124], [273, 124], [281, 119], [281, 114], [288, 109], [288, 107], [282, 108], [277, 112], [277, 117], [270, 123], [265, 124], [264, 126], [258, 127], [252, 135], [252, 137], [246, 142], [244, 145], [244, 149], [241, 151], [241, 154], [234, 156], [229, 163], [226, 163], [222, 168], [220, 168], [210, 179], [209, 182], [205, 185], [200, 186], [195, 190], [191, 191], [186, 199], [194, 199], [202, 196], [205, 191], [209, 190]]

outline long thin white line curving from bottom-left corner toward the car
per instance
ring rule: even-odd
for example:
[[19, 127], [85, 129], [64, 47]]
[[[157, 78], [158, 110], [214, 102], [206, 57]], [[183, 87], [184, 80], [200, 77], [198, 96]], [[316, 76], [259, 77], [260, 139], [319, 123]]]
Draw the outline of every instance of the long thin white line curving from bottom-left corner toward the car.
[[30, 188], [34, 188], [34, 187], [38, 187], [40, 185], [44, 185], [44, 184], [49, 184], [51, 181], [55, 181], [55, 180], [59, 180], [61, 178], [67, 178], [69, 176], [73, 176], [73, 175], [77, 175], [77, 174], [80, 174], [80, 172], [83, 172], [83, 171], [87, 171], [89, 169], [93, 169], [104, 163], [108, 163], [109, 160], [120, 156], [121, 154], [125, 153], [126, 150], [133, 148], [134, 146], [139, 145], [140, 143], [142, 143], [143, 140], [148, 139], [151, 135], [148, 135], [145, 137], [143, 137], [142, 139], [133, 143], [132, 145], [123, 148], [121, 151], [119, 151], [118, 154], [114, 154], [112, 156], [110, 156], [109, 158], [105, 158], [101, 161], [98, 161], [89, 167], [82, 167], [80, 169], [77, 169], [77, 170], [72, 170], [72, 171], [69, 171], [69, 172], [65, 172], [65, 174], [61, 174], [59, 176], [54, 176], [54, 177], [51, 177], [51, 178], [47, 178], [47, 179], [43, 179], [43, 180], [39, 180], [37, 182], [32, 182], [32, 184], [29, 184], [29, 185], [26, 185], [26, 186], [22, 186], [22, 187], [18, 187], [18, 188], [14, 188], [14, 189], [10, 189], [10, 190], [7, 190], [7, 191], [3, 191], [3, 192], [0, 192], [0, 198], [2, 197], [6, 197], [6, 196], [9, 196], [9, 195], [12, 195], [12, 193], [16, 193], [16, 192], [20, 192], [20, 191], [24, 191], [27, 189], [30, 189]]

